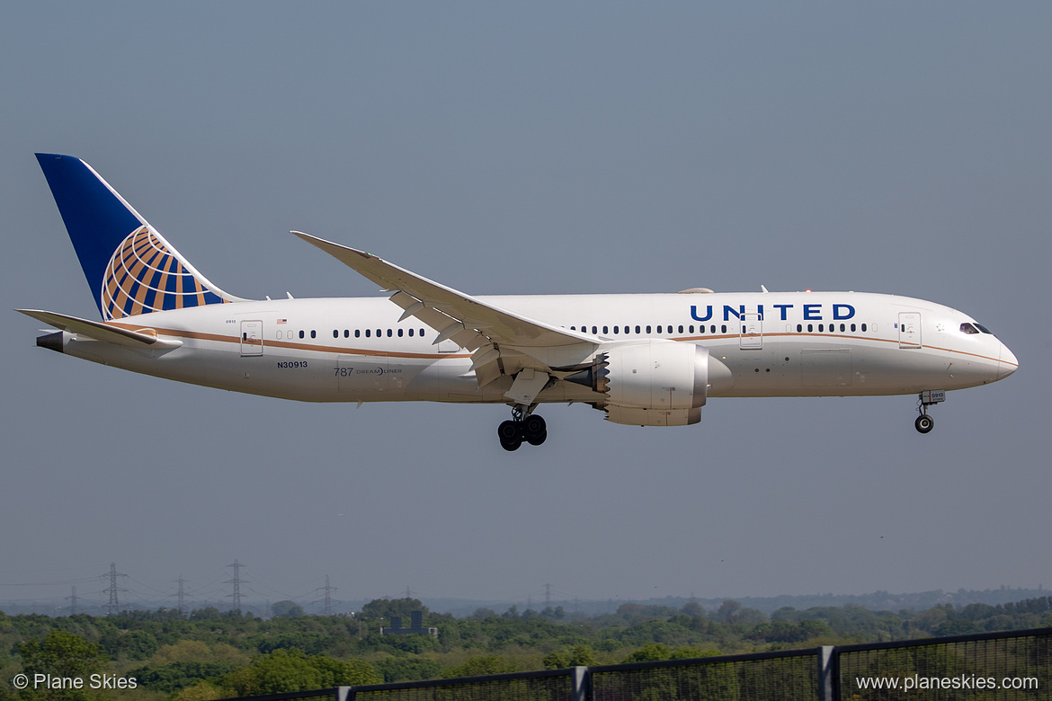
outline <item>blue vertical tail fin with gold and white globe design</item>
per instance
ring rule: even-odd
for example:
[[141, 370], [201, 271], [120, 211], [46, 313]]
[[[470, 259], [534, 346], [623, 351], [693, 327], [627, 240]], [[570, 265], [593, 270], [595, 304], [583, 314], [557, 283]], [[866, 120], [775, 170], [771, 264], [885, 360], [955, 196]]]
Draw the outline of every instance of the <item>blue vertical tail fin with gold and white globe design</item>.
[[92, 166], [37, 153], [104, 321], [237, 302], [199, 273]]

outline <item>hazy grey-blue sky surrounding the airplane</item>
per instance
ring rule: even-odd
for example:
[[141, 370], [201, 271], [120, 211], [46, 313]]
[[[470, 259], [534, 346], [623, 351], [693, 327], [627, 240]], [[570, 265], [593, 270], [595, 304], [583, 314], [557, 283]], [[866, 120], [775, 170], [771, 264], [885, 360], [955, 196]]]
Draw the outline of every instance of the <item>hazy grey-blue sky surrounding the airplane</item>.
[[181, 386], [9, 311], [0, 599], [112, 561], [217, 598], [235, 558], [271, 598], [1049, 584], [1050, 33], [1036, 2], [11, 3], [8, 309], [97, 314], [53, 151], [241, 296], [376, 293], [295, 228], [476, 294], [918, 296], [1021, 369], [927, 436], [912, 396], [722, 399], [667, 430], [550, 408], [508, 454], [504, 407]]

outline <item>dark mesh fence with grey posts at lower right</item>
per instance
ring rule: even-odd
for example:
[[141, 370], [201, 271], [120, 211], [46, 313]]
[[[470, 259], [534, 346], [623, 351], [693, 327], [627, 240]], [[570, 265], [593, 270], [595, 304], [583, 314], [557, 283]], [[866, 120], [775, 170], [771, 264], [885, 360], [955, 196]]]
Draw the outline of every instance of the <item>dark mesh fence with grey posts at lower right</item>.
[[320, 697], [327, 701], [1052, 701], [1052, 628], [249, 698]]

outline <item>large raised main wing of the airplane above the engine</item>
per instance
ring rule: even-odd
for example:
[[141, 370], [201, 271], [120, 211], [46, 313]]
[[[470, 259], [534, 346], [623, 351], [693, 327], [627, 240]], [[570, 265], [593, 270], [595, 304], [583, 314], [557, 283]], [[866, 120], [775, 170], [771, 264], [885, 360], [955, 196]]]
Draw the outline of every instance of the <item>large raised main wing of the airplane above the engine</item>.
[[602, 344], [595, 336], [501, 309], [371, 253], [302, 231], [292, 233], [384, 290], [393, 291], [390, 301], [404, 310], [402, 318], [413, 316], [437, 330], [436, 344], [448, 338], [473, 351], [480, 387], [524, 368], [552, 374], [555, 368], [582, 362]]

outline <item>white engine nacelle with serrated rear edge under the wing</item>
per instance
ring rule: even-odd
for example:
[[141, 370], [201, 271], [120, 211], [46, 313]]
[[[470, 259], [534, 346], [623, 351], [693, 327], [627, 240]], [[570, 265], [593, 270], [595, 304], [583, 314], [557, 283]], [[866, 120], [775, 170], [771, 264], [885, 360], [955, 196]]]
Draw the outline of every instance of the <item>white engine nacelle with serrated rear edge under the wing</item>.
[[615, 424], [685, 426], [702, 420], [709, 364], [707, 348], [653, 339], [608, 348], [566, 379], [606, 394], [596, 408]]

